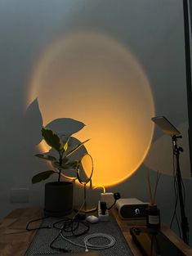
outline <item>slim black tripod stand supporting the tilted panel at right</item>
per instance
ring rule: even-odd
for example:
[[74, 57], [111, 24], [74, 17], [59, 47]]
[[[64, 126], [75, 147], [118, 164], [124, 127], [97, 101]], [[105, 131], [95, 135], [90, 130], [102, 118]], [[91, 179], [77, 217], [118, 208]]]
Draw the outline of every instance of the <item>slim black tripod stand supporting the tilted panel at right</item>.
[[182, 237], [184, 242], [189, 245], [189, 225], [185, 215], [185, 204], [182, 192], [182, 178], [181, 178], [181, 169], [180, 169], [180, 161], [179, 156], [180, 152], [183, 152], [181, 146], [177, 146], [177, 139], [181, 138], [182, 136], [172, 136], [172, 147], [173, 147], [173, 154], [176, 156], [176, 182], [178, 188], [178, 195], [180, 201], [180, 211], [181, 211], [181, 229], [182, 229]]

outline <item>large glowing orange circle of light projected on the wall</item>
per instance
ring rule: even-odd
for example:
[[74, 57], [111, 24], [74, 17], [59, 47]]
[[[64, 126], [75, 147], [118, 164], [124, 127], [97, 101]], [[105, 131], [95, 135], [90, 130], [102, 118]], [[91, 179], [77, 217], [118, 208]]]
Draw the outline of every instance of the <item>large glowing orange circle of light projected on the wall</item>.
[[74, 135], [91, 138], [94, 186], [112, 186], [141, 165], [150, 148], [154, 101], [141, 65], [105, 34], [67, 34], [34, 67], [27, 106], [38, 97], [43, 124], [72, 118], [86, 124]]

